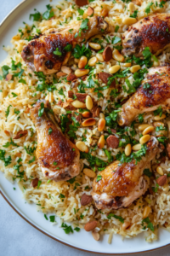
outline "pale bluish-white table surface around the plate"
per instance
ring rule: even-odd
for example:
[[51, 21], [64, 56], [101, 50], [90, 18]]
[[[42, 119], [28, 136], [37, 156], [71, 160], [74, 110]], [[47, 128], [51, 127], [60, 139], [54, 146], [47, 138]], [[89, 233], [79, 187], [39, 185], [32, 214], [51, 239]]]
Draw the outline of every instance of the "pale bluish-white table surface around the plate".
[[[18, 3], [20, 3], [20, 0], [0, 0], [0, 22]], [[11, 255], [92, 256], [94, 254], [84, 253], [71, 247], [66, 247], [48, 236], [43, 235], [30, 224], [27, 224], [24, 219], [20, 218], [0, 195], [0, 256]], [[169, 256], [170, 247], [165, 247], [151, 253], [139, 253], [138, 255]]]

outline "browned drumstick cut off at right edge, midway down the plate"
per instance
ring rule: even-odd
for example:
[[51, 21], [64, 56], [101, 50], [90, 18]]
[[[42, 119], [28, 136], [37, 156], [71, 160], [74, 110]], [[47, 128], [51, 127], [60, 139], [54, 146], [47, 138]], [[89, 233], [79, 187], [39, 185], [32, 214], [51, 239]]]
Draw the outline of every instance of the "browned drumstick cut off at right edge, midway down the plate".
[[[144, 89], [146, 83], [148, 89]], [[170, 107], [170, 63], [149, 69], [138, 90], [122, 105], [118, 124], [127, 126], [139, 113], [154, 111], [159, 106], [165, 109]]]

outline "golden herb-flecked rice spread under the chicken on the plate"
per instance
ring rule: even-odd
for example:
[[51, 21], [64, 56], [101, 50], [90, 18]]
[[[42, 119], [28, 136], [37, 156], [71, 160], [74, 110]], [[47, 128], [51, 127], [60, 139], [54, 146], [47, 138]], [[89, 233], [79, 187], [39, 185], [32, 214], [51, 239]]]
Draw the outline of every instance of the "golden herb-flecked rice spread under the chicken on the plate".
[[[102, 46], [105, 49], [107, 45], [110, 45], [113, 49], [113, 45], [109, 44], [111, 40], [116, 36], [122, 38], [122, 33], [126, 31], [127, 25], [122, 23], [124, 16], [129, 16], [128, 3], [126, 1], [98, 1], [94, 0], [89, 3], [89, 6], [94, 8], [94, 14], [101, 16], [102, 9], [109, 9], [109, 14], [105, 17], [105, 20], [111, 24], [111, 26], [118, 27], [117, 32], [107, 34], [105, 36], [98, 35], [94, 38], [98, 38], [102, 41]], [[127, 1], [128, 2], [128, 1]], [[156, 6], [156, 2], [158, 3]], [[138, 20], [146, 16], [145, 9], [148, 7], [150, 1], [142, 1], [141, 6], [135, 5], [138, 9], [137, 18]], [[152, 1], [154, 3], [150, 8], [149, 15], [156, 12], [169, 13], [170, 4], [167, 2], [163, 7], [159, 7], [161, 1]], [[87, 6], [81, 8], [83, 11], [87, 9]], [[37, 32], [46, 32], [53, 28], [63, 28], [65, 26], [74, 26], [77, 23], [77, 19], [82, 18], [80, 15], [80, 9], [75, 5], [74, 1], [70, 2], [63, 1], [56, 6], [53, 6], [52, 11], [54, 12], [54, 19], [34, 21], [33, 26], [25, 24], [25, 27], [20, 27], [19, 32], [12, 39], [13, 48], [8, 46], [4, 49], [8, 52], [8, 57], [1, 64], [0, 74], [0, 165], [1, 171], [4, 172], [6, 178], [12, 183], [18, 183], [20, 189], [23, 192], [24, 199], [29, 203], [37, 204], [37, 211], [42, 211], [44, 214], [54, 213], [61, 219], [62, 223], [69, 222], [73, 227], [83, 228], [84, 224], [87, 224], [90, 220], [98, 220], [98, 228], [95, 231], [99, 234], [110, 234], [109, 243], [113, 234], [119, 234], [123, 237], [132, 238], [137, 236], [139, 233], [144, 232], [146, 241], [154, 241], [158, 239], [157, 230], [158, 226], [166, 227], [170, 230], [170, 192], [169, 184], [160, 187], [156, 190], [153, 195], [141, 196], [138, 200], [134, 201], [130, 207], [122, 208], [118, 210], [102, 210], [97, 211], [94, 204], [83, 207], [80, 203], [81, 197], [84, 193], [91, 195], [93, 179], [84, 175], [82, 170], [83, 166], [89, 166], [91, 168], [88, 159], [81, 159], [81, 172], [76, 178], [72, 178], [68, 182], [54, 182], [48, 180], [42, 176], [40, 167], [37, 165], [35, 150], [37, 148], [37, 133], [35, 126], [33, 125], [30, 118], [30, 108], [39, 99], [46, 99], [51, 103], [51, 108], [54, 111], [56, 117], [66, 114], [65, 108], [59, 106], [58, 102], [66, 102], [68, 98], [68, 91], [76, 89], [71, 88], [71, 84], [67, 83], [65, 79], [56, 80], [54, 75], [48, 75], [47, 79], [49, 84], [53, 84], [53, 90], [50, 86], [45, 90], [37, 90], [42, 86], [42, 74], [31, 72], [26, 66], [26, 63], [21, 59], [20, 52], [23, 47], [28, 43], [26, 38], [29, 38]], [[109, 42], [109, 43], [108, 43]], [[88, 42], [89, 43], [89, 42]], [[88, 46], [88, 43], [86, 46]], [[114, 45], [120, 46], [120, 43]], [[92, 50], [92, 57], [96, 55], [96, 52]], [[158, 61], [169, 61], [170, 49], [164, 50], [161, 55], [158, 56]], [[19, 65], [17, 65], [20, 63]], [[111, 59], [110, 62], [97, 63], [94, 68], [94, 74], [98, 74], [102, 71], [108, 73], [109, 68], [113, 65], [119, 64], [118, 61]], [[11, 66], [12, 65], [12, 66]], [[4, 66], [8, 73], [14, 74], [13, 79], [7, 81], [3, 79]], [[72, 70], [77, 69], [77, 65], [74, 63], [74, 58], [71, 56], [68, 66]], [[141, 68], [146, 68], [145, 66]], [[122, 70], [126, 69], [122, 67]], [[54, 79], [55, 78], [55, 79]], [[133, 74], [128, 73], [127, 79], [130, 83], [133, 83]], [[128, 89], [128, 84], [125, 82], [125, 78], [117, 79], [119, 84], [122, 84], [125, 89]], [[81, 79], [78, 79], [81, 82]], [[99, 86], [104, 86], [102, 82], [99, 82]], [[88, 81], [83, 81], [84, 84], [88, 84]], [[98, 85], [94, 84], [94, 88]], [[120, 90], [120, 93], [111, 98], [111, 89], [108, 88], [102, 91], [103, 96], [99, 96], [94, 90], [85, 88], [85, 92], [94, 98], [95, 102], [98, 102], [98, 106], [101, 111], [105, 114], [108, 105], [114, 106], [115, 102], [120, 101], [122, 98], [127, 97], [126, 90]], [[169, 112], [169, 111], [167, 111]], [[153, 124], [154, 122], [153, 113], [146, 113], [144, 115], [144, 123]], [[99, 117], [95, 118], [96, 124], [99, 121]], [[164, 123], [168, 124], [168, 119], [164, 120]], [[139, 123], [138, 123], [139, 125]], [[139, 141], [139, 129], [138, 125], [134, 127], [126, 127], [127, 134], [133, 139]], [[106, 127], [109, 128], [109, 127]], [[18, 131], [27, 131], [26, 137], [20, 137], [19, 139], [12, 139]], [[132, 132], [134, 135], [132, 136]], [[105, 154], [103, 149], [95, 148], [99, 137], [105, 133], [105, 131], [98, 131], [97, 125], [93, 126], [93, 129], [84, 127], [78, 127], [76, 131], [77, 141], [83, 141], [88, 146], [93, 156], [108, 162], [108, 156]], [[122, 143], [125, 140], [121, 135], [116, 134]], [[123, 147], [120, 148], [107, 148], [105, 145], [104, 149], [107, 149], [111, 156], [116, 159], [116, 154], [123, 152]], [[156, 164], [157, 160], [153, 160], [153, 165]], [[109, 164], [109, 163], [108, 163]], [[165, 157], [165, 161], [161, 162], [161, 168], [165, 174], [170, 172], [170, 160]], [[94, 172], [98, 173], [98, 169], [94, 167]], [[36, 188], [31, 187], [31, 180], [38, 177], [39, 183]], [[152, 181], [151, 187], [156, 187], [156, 180]], [[150, 206], [150, 222], [155, 227], [154, 231], [150, 230], [147, 225], [142, 224], [144, 207]], [[108, 218], [108, 214], [113, 213], [124, 220], [129, 222], [131, 225], [127, 230], [122, 229], [122, 222], [120, 218]]]

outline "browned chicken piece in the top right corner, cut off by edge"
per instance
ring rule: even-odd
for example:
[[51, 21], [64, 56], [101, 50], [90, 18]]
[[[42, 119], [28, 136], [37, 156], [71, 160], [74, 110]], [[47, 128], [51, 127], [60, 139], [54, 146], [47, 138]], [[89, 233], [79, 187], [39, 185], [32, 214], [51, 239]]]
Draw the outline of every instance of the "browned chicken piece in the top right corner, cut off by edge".
[[122, 36], [123, 55], [142, 56], [145, 47], [154, 55], [170, 45], [170, 14], [156, 14], [129, 26]]

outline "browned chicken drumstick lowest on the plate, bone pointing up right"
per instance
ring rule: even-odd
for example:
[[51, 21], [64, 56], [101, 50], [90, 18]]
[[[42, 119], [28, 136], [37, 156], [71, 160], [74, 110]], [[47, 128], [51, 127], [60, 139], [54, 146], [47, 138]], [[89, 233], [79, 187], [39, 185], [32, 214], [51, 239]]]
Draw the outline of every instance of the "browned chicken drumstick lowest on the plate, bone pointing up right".
[[149, 187], [149, 177], [143, 176], [144, 169], [158, 152], [158, 142], [151, 137], [147, 143], [145, 157], [137, 165], [135, 160], [119, 164], [113, 162], [104, 171], [99, 172], [99, 182], [94, 179], [92, 196], [98, 209], [118, 209], [128, 207]]

